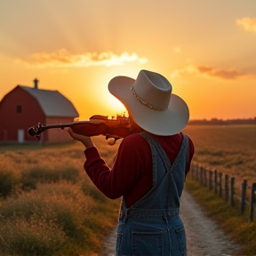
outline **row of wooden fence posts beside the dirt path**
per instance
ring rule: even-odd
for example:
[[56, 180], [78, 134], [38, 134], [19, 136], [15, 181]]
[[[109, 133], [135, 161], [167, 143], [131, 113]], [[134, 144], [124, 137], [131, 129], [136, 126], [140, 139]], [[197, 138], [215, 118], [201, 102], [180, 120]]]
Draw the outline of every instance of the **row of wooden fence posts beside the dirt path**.
[[[212, 190], [216, 196], [225, 200], [231, 207], [240, 204], [240, 214], [249, 211], [249, 220], [256, 220], [256, 182], [243, 180], [242, 184], [236, 181], [236, 177], [230, 177], [227, 173], [209, 170], [200, 164], [191, 164], [192, 179], [197, 180], [204, 187]], [[241, 180], [240, 180], [241, 182]]]

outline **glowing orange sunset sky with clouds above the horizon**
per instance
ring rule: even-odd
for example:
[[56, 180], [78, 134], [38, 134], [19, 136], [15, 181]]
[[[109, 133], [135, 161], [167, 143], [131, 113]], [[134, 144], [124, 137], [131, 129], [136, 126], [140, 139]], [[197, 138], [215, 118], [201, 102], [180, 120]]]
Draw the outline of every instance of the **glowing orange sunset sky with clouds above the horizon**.
[[256, 116], [254, 0], [0, 0], [0, 100], [17, 84], [58, 90], [80, 120], [124, 111], [114, 76], [156, 71], [190, 118]]

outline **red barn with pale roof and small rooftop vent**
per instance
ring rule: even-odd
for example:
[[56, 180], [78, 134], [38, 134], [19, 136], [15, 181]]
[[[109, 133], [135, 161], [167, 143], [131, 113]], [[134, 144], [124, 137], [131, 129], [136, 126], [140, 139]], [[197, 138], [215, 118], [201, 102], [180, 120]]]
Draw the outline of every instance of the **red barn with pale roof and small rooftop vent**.
[[[68, 124], [78, 113], [73, 104], [58, 91], [17, 85], [0, 102], [0, 143], [27, 143], [37, 141], [28, 134], [28, 128], [42, 124]], [[41, 134], [43, 143], [72, 140], [68, 132], [49, 129]]]

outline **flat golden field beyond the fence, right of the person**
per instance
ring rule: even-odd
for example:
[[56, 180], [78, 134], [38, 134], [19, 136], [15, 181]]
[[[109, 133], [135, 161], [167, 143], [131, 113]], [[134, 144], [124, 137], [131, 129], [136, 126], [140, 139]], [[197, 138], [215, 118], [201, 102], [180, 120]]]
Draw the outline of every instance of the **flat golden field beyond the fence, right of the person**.
[[188, 125], [184, 132], [194, 141], [194, 162], [256, 182], [255, 125]]

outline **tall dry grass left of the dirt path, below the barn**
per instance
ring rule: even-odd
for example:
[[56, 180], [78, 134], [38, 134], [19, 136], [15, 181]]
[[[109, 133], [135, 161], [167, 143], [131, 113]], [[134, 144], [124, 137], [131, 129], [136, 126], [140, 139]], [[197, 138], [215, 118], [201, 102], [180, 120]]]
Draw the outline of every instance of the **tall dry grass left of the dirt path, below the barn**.
[[[93, 140], [111, 164], [117, 145]], [[102, 254], [119, 200], [89, 180], [83, 150], [78, 142], [0, 147], [0, 255]]]

